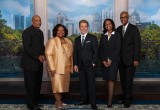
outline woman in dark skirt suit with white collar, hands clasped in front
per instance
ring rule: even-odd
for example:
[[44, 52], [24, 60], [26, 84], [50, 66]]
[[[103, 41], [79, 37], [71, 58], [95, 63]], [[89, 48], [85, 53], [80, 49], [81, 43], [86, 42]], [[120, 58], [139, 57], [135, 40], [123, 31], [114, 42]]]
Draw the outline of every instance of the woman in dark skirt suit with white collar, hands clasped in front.
[[100, 40], [100, 57], [103, 68], [103, 79], [107, 81], [108, 104], [112, 107], [112, 97], [114, 82], [117, 79], [118, 66], [120, 60], [121, 37], [115, 30], [113, 20], [106, 19], [103, 23], [103, 35]]

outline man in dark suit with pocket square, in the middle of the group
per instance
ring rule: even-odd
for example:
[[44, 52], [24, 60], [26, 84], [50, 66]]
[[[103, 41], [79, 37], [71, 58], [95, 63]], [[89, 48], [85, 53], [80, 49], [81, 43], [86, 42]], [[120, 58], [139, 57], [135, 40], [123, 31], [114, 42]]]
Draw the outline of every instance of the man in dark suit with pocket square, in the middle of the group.
[[74, 71], [79, 73], [81, 85], [81, 102], [79, 105], [91, 104], [96, 110], [95, 74], [98, 56], [98, 41], [96, 36], [88, 33], [89, 23], [86, 20], [79, 22], [81, 35], [74, 42]]

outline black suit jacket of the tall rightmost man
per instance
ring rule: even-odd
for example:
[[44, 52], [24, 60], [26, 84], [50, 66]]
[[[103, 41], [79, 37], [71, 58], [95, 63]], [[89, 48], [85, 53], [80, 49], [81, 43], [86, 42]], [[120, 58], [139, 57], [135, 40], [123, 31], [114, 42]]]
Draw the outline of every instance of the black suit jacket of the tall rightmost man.
[[124, 37], [122, 37], [122, 25], [117, 28], [121, 33], [122, 48], [121, 58], [125, 65], [133, 65], [133, 61], [140, 61], [141, 37], [136, 26], [128, 24]]

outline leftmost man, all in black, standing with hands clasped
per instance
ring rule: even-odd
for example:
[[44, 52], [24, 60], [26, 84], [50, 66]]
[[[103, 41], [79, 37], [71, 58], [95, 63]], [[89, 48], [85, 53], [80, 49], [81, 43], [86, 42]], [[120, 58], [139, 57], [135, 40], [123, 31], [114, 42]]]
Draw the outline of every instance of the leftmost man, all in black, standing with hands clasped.
[[39, 29], [41, 18], [38, 15], [32, 17], [32, 26], [25, 29], [23, 38], [23, 56], [21, 67], [24, 70], [24, 83], [26, 91], [27, 107], [30, 110], [41, 110], [38, 106], [40, 95], [44, 57], [44, 37]]

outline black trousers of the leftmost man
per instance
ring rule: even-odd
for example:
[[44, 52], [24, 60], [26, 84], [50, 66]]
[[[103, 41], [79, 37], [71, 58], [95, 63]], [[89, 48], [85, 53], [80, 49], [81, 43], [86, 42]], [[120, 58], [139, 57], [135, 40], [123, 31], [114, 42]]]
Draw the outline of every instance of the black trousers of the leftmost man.
[[38, 98], [41, 90], [43, 69], [38, 71], [24, 70], [24, 83], [27, 107], [33, 109], [38, 106]]

